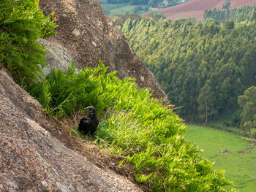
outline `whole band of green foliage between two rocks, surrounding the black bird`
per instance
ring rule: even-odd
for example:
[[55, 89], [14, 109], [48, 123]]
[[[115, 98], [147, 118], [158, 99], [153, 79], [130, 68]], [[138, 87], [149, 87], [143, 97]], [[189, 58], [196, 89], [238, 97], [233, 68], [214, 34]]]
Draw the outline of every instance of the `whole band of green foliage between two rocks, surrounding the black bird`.
[[93, 104], [101, 117], [96, 142], [125, 156], [137, 182], [148, 182], [151, 191], [227, 191], [232, 185], [184, 141], [181, 118], [152, 99], [148, 89], [138, 90], [131, 78], [118, 80], [116, 72], [107, 74], [102, 62], [77, 74], [74, 67], [67, 74], [53, 70], [31, 94], [57, 116]]

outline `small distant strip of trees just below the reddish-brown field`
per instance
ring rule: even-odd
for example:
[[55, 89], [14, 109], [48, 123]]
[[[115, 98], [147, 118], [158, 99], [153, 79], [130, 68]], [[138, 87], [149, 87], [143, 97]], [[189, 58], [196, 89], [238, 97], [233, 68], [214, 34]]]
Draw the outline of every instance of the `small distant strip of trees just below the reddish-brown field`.
[[203, 14], [203, 18], [214, 18], [217, 23], [225, 23], [227, 20], [233, 20], [235, 22], [256, 20], [256, 7], [247, 6], [226, 10], [206, 10]]

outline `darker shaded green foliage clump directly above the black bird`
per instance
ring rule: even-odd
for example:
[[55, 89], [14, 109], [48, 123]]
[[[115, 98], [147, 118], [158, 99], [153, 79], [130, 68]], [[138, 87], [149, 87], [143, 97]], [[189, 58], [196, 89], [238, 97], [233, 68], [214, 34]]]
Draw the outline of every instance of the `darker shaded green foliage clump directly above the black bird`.
[[[67, 74], [60, 69], [53, 69], [40, 82], [31, 85], [29, 92], [45, 107], [45, 110], [50, 112], [50, 115], [58, 118], [63, 115], [68, 116], [77, 110], [84, 112], [83, 108], [89, 105], [94, 105], [98, 111], [101, 111], [105, 101], [102, 99], [102, 88], [105, 87], [102, 78], [106, 74], [102, 70], [100, 76], [100, 70], [100, 67], [86, 68], [76, 74], [75, 64], [69, 66]], [[108, 77], [113, 74], [115, 73], [108, 74]], [[107, 107], [106, 104], [104, 107]]]

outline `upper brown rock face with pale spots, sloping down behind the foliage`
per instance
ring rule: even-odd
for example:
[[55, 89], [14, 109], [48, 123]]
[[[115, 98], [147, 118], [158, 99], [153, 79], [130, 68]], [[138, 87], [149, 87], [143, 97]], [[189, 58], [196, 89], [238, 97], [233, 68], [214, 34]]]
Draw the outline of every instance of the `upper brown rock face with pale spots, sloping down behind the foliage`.
[[118, 77], [135, 77], [139, 88], [151, 88], [158, 99], [165, 97], [154, 75], [97, 0], [40, 0], [39, 7], [45, 14], [56, 12], [58, 34], [49, 40], [67, 50], [78, 69], [97, 66], [102, 60], [110, 71], [118, 71]]

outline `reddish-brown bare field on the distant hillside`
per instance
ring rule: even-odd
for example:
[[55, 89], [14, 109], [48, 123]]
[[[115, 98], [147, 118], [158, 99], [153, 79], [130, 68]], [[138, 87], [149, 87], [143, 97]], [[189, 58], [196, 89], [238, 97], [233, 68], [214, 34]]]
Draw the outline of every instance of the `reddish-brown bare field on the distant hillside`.
[[[170, 18], [171, 20], [178, 18], [196, 18], [197, 20], [203, 20], [203, 12], [205, 12], [206, 9], [222, 9], [222, 5], [225, 1], [226, 0], [192, 0], [173, 7], [158, 9], [158, 11], [162, 12], [166, 18]], [[243, 7], [246, 5], [256, 5], [256, 0], [230, 0], [230, 3], [230, 8]], [[143, 16], [148, 16], [148, 13]]]

